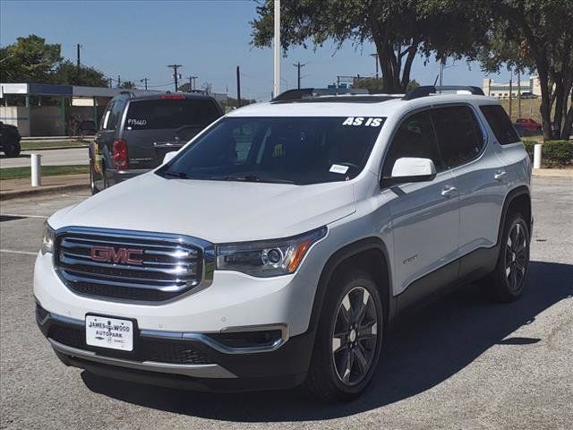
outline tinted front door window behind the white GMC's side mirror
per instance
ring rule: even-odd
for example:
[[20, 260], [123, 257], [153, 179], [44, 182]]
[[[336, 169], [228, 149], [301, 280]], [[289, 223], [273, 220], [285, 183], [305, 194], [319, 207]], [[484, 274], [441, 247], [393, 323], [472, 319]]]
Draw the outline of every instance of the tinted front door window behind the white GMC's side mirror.
[[436, 136], [433, 132], [429, 111], [409, 116], [399, 126], [392, 142], [390, 142], [390, 148], [382, 168], [382, 176], [391, 176], [396, 160], [405, 157], [432, 159], [436, 172], [446, 169], [440, 158], [438, 142], [436, 142]]

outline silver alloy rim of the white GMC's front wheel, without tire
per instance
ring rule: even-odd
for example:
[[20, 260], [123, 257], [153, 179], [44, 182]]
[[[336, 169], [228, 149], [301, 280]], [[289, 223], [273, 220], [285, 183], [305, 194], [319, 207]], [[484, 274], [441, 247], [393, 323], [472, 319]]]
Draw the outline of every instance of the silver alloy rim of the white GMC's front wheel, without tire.
[[345, 385], [361, 383], [372, 366], [378, 340], [378, 313], [366, 288], [355, 287], [338, 306], [332, 331], [332, 359]]

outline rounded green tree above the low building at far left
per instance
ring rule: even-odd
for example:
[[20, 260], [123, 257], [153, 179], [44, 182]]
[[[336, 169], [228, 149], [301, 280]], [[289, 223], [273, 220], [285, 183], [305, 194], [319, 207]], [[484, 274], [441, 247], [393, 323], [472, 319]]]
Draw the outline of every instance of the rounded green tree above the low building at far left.
[[62, 60], [59, 44], [47, 44], [35, 34], [18, 38], [0, 48], [0, 76], [3, 82], [51, 82], [51, 74]]

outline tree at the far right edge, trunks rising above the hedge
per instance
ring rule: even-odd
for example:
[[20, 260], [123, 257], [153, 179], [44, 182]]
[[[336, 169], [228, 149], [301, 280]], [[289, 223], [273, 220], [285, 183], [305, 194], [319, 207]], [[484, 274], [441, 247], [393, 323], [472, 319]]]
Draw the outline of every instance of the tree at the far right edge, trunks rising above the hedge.
[[[474, 0], [479, 7], [479, 0]], [[541, 84], [543, 137], [569, 139], [573, 127], [573, 7], [567, 0], [491, 0], [495, 16], [481, 59], [485, 70], [536, 71]], [[569, 107], [568, 107], [569, 106]], [[552, 108], [554, 115], [552, 118]], [[553, 119], [553, 121], [552, 121]], [[557, 129], [552, 133], [552, 122]]]

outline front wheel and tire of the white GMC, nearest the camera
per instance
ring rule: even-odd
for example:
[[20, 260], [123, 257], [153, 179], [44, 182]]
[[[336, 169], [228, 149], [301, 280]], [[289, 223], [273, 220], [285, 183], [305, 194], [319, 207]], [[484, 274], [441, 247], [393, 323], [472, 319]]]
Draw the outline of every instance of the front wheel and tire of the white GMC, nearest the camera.
[[307, 387], [327, 401], [358, 397], [378, 365], [383, 321], [372, 277], [353, 269], [335, 273], [322, 306]]

